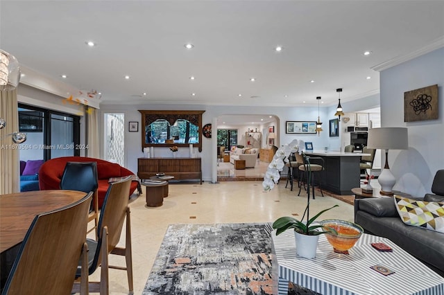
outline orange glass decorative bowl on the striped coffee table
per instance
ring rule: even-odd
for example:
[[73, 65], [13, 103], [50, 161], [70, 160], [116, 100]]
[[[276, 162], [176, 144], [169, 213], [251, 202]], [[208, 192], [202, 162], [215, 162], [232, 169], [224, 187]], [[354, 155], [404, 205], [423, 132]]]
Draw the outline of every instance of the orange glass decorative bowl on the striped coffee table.
[[320, 224], [337, 232], [337, 234], [325, 233], [325, 238], [337, 253], [348, 253], [348, 250], [356, 244], [361, 234], [364, 233], [361, 226], [345, 220], [323, 220]]

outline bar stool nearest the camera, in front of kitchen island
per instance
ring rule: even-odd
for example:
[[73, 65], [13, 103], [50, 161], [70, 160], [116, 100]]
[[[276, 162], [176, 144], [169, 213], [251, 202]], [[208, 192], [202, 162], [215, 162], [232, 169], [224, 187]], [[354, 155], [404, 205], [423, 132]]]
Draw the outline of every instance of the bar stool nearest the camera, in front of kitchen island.
[[[319, 182], [319, 189], [321, 190], [321, 195], [324, 196], [322, 192], [322, 177], [325, 170], [325, 162], [324, 159], [321, 157], [308, 157], [305, 154], [302, 154], [303, 159], [303, 165], [299, 166], [298, 170], [302, 173], [302, 176], [305, 176], [305, 179], [307, 179], [307, 195], [308, 198], [310, 197], [310, 185], [311, 185], [311, 192], [313, 194], [314, 199], [314, 178], [315, 175], [318, 175], [318, 182]], [[316, 163], [313, 163], [316, 162]], [[302, 184], [299, 186], [299, 193], [302, 188]]]

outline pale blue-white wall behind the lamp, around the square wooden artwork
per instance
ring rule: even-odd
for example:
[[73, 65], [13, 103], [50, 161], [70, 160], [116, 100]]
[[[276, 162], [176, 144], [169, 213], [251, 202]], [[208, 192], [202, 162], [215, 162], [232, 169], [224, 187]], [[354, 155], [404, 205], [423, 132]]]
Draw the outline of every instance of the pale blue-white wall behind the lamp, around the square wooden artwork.
[[[404, 92], [433, 84], [438, 84], [438, 120], [404, 123]], [[409, 129], [409, 150], [388, 152], [398, 179], [395, 190], [422, 196], [431, 191], [436, 171], [444, 169], [443, 84], [444, 48], [380, 73], [382, 127]]]

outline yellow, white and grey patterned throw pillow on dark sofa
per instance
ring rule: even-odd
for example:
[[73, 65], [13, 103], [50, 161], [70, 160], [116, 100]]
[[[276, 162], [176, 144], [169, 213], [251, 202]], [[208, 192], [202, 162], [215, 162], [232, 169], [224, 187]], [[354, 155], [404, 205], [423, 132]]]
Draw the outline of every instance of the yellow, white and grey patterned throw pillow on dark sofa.
[[444, 233], [444, 203], [425, 202], [394, 196], [396, 210], [404, 224]]

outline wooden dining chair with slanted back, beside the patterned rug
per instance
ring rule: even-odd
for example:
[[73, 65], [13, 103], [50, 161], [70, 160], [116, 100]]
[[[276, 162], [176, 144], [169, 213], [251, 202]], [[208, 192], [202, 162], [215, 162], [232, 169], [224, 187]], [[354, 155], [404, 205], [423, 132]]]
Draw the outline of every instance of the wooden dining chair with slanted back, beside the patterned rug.
[[[99, 240], [87, 239], [89, 248], [87, 275], [91, 275], [101, 267], [101, 281], [89, 282], [89, 292], [109, 294], [108, 268], [126, 270], [128, 276], [129, 293], [133, 294], [133, 258], [131, 253], [131, 224], [130, 208], [128, 207], [128, 192], [131, 179], [114, 182], [108, 187], [99, 218]], [[123, 222], [126, 219], [125, 247], [117, 247], [120, 240]], [[108, 256], [115, 254], [125, 256], [126, 267], [112, 266], [108, 263]], [[76, 278], [83, 278], [85, 269], [78, 267]], [[81, 280], [80, 280], [81, 283]], [[74, 283], [72, 292], [79, 292], [80, 284]]]

